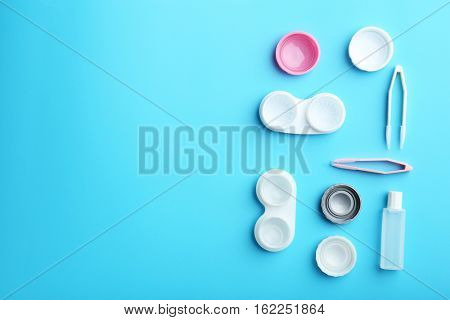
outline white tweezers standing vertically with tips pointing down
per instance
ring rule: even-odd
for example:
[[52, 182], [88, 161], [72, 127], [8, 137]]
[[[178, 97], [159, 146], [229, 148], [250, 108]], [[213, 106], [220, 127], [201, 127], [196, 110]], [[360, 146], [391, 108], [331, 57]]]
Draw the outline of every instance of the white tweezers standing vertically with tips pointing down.
[[391, 100], [392, 100], [392, 89], [394, 88], [395, 79], [397, 78], [397, 74], [400, 74], [400, 80], [402, 81], [402, 89], [403, 89], [403, 111], [402, 111], [402, 125], [400, 126], [400, 149], [403, 149], [403, 145], [405, 144], [406, 138], [406, 110], [407, 110], [407, 99], [408, 99], [408, 90], [406, 89], [405, 82], [405, 74], [403, 73], [403, 67], [398, 65], [394, 69], [394, 73], [392, 74], [391, 84], [389, 85], [388, 92], [388, 109], [387, 109], [387, 123], [386, 123], [386, 146], [388, 150], [391, 148]]

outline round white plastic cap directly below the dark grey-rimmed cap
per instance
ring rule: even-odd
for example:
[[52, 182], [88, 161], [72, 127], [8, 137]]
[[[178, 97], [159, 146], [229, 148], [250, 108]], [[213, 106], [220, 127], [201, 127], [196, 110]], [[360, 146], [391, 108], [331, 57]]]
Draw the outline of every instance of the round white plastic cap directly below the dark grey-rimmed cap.
[[328, 237], [316, 250], [316, 261], [320, 270], [332, 277], [340, 277], [352, 271], [356, 264], [356, 249], [347, 238]]

